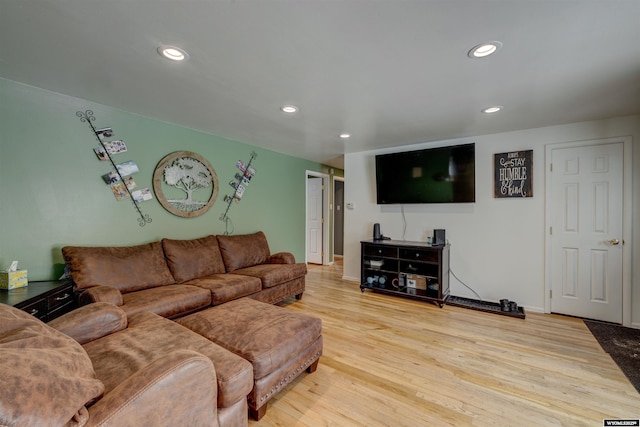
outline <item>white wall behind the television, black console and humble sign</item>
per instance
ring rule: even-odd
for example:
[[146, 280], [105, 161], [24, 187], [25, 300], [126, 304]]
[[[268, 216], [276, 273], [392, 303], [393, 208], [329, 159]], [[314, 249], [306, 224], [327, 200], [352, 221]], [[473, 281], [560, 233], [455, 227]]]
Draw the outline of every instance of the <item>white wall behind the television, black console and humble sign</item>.
[[[345, 279], [360, 278], [360, 241], [371, 238], [373, 224], [395, 240], [425, 241], [434, 228], [446, 229], [451, 244], [451, 269], [484, 300], [509, 298], [521, 306], [544, 311], [545, 294], [545, 146], [561, 142], [617, 136], [633, 139], [633, 187], [640, 188], [640, 116], [574, 123], [436, 143], [414, 144], [393, 150], [345, 155]], [[476, 203], [404, 205], [406, 231], [400, 205], [377, 205], [376, 154], [439, 145], [476, 143]], [[533, 197], [493, 197], [493, 155], [533, 149]], [[633, 247], [640, 247], [640, 201], [632, 201]], [[631, 235], [631, 234], [629, 234]], [[631, 263], [631, 321], [640, 327], [640, 263]], [[451, 293], [475, 298], [454, 277]], [[629, 318], [629, 317], [628, 317]]]

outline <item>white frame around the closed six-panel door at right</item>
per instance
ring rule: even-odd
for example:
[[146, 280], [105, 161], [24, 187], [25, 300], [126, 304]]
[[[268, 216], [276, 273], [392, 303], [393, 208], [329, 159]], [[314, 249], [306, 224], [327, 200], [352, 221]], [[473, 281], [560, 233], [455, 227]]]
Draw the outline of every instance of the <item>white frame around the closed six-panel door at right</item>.
[[631, 136], [591, 139], [584, 141], [560, 142], [545, 145], [545, 279], [544, 279], [544, 312], [551, 313], [551, 152], [559, 148], [588, 147], [622, 143], [622, 324], [631, 326], [631, 246], [632, 246], [632, 206], [633, 206], [633, 174], [632, 174], [632, 138]]

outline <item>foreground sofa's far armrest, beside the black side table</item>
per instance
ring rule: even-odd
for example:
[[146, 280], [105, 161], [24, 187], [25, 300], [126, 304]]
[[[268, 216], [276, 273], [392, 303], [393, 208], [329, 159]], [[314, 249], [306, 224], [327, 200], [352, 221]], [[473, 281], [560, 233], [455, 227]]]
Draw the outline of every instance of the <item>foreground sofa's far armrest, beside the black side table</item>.
[[97, 302], [77, 308], [48, 323], [80, 344], [127, 327], [127, 314], [113, 304]]

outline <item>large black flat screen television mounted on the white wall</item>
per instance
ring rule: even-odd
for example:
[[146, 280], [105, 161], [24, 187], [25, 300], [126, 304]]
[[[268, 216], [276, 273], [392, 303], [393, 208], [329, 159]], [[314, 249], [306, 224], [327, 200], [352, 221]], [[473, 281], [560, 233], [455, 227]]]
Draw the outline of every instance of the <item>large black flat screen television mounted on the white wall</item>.
[[476, 201], [475, 144], [376, 156], [379, 205]]

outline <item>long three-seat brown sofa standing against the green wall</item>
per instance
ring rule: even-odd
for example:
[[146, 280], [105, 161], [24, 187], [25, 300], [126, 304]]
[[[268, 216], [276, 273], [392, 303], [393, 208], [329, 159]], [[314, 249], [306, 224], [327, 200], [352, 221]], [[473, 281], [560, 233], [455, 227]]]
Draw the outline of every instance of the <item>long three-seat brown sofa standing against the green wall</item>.
[[307, 266], [291, 253], [271, 254], [263, 232], [162, 239], [137, 246], [62, 248], [80, 305], [110, 302], [130, 316], [150, 311], [175, 319], [250, 297], [300, 299]]

